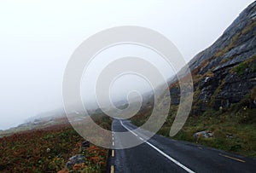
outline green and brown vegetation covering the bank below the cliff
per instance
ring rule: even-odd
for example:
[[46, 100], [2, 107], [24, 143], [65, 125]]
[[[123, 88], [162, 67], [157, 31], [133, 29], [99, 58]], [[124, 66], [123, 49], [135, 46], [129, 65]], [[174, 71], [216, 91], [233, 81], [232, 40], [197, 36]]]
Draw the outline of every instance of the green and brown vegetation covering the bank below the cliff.
[[[201, 116], [190, 114], [183, 129], [176, 136], [176, 140], [197, 142], [198, 144], [215, 147], [231, 153], [238, 153], [256, 158], [256, 108], [248, 107], [250, 101], [256, 101], [256, 87], [249, 95], [230, 108], [214, 110], [207, 109]], [[171, 106], [165, 124], [158, 131], [161, 136], [169, 136], [172, 122], [177, 114], [178, 106]], [[150, 110], [144, 110], [131, 118], [133, 124], [141, 126], [149, 118]], [[199, 131], [212, 132], [213, 137], [199, 138], [194, 134]]]

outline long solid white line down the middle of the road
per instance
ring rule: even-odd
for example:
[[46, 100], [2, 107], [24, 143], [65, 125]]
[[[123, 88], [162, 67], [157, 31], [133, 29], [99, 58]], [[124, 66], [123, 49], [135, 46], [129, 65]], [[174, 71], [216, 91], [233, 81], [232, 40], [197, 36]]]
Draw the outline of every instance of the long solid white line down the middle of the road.
[[[126, 130], [129, 130], [133, 135], [137, 136], [136, 133], [134, 133], [132, 130], [130, 130], [129, 128], [127, 128], [122, 121], [120, 121], [121, 124], [123, 125], [123, 127], [125, 127]], [[143, 138], [139, 137], [142, 141]], [[148, 146], [153, 147], [157, 152], [159, 152], [160, 154], [162, 154], [163, 156], [165, 156], [167, 159], [171, 160], [174, 164], [177, 164], [179, 167], [183, 168], [183, 170], [186, 170], [189, 173], [195, 173], [195, 171], [190, 170], [188, 167], [186, 167], [185, 165], [179, 163], [176, 159], [173, 159], [171, 156], [169, 156], [168, 154], [164, 153], [163, 151], [161, 151], [158, 147], [155, 147], [153, 144], [149, 143], [148, 141], [145, 141], [145, 143], [148, 144]]]

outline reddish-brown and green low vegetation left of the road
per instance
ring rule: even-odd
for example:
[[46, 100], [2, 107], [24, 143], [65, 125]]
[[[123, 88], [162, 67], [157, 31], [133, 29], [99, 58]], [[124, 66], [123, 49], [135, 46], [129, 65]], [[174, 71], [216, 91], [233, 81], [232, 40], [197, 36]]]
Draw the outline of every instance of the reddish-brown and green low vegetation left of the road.
[[[97, 118], [106, 129], [109, 118]], [[81, 153], [84, 139], [70, 124], [54, 125], [41, 130], [28, 130], [0, 138], [0, 172], [104, 172], [108, 149], [90, 145]], [[66, 168], [69, 158], [84, 154], [84, 164]]]

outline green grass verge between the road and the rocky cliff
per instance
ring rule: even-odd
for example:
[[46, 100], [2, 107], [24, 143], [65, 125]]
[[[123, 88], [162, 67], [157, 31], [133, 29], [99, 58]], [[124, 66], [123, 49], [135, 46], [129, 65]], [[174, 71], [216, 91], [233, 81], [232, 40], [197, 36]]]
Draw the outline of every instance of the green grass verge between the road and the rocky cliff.
[[[235, 107], [235, 106], [234, 106]], [[236, 105], [236, 107], [238, 107]], [[232, 153], [239, 153], [256, 158], [256, 109], [246, 107], [222, 112], [208, 110], [202, 116], [189, 117], [183, 130], [174, 139], [196, 142], [195, 132], [201, 130], [212, 131], [214, 137], [201, 138], [198, 143], [207, 147], [215, 147]], [[170, 128], [164, 126], [160, 135], [168, 136]], [[163, 133], [163, 131], [166, 131]], [[228, 138], [227, 135], [232, 135]]]

